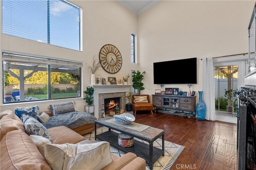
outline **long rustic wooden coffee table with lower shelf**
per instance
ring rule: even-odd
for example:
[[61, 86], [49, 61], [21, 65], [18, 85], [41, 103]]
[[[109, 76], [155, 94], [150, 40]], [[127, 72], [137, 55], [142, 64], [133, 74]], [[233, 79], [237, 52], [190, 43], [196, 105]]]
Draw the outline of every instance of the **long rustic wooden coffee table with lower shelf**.
[[[114, 119], [113, 117], [105, 117], [98, 120], [95, 120], [95, 140], [100, 139], [102, 141], [108, 141], [111, 146], [122, 150], [123, 152], [133, 152], [137, 156], [140, 156], [146, 160], [146, 162], [149, 164], [150, 170], [153, 169], [153, 164], [160, 158], [160, 156], [164, 156], [164, 130], [158, 129], [155, 127], [148, 127], [144, 131], [135, 131], [126, 127], [122, 127], [118, 124], [113, 124], [106, 122], [106, 120]], [[108, 127], [108, 131], [104, 133], [100, 133], [97, 135], [97, 124], [102, 125], [105, 127]], [[134, 145], [132, 147], [121, 147], [118, 145], [118, 134], [114, 131], [111, 131], [111, 129], [116, 130], [121, 133], [125, 133], [127, 135], [130, 135], [132, 137], [136, 137], [138, 139], [141, 139], [143, 141], [146, 141], [149, 143], [143, 143], [137, 140], [134, 140]], [[156, 139], [162, 136], [162, 149], [153, 147], [153, 143]]]

